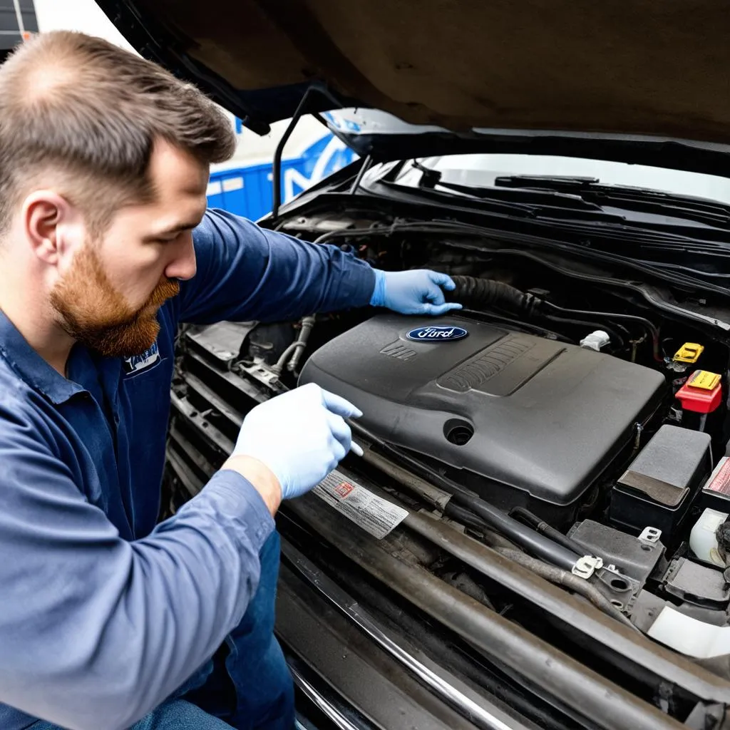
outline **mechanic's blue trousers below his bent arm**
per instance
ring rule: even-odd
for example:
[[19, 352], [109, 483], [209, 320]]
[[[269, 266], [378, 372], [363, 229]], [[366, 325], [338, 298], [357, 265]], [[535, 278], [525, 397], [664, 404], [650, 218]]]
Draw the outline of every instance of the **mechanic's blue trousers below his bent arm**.
[[[293, 730], [293, 683], [274, 637], [279, 545], [274, 532], [261, 548], [258, 591], [212, 661], [130, 730]], [[39, 721], [28, 730], [61, 729]]]

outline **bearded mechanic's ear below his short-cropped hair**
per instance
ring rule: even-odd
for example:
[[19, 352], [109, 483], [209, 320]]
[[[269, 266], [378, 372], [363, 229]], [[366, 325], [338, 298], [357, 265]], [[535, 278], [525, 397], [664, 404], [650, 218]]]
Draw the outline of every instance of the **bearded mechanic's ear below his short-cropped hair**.
[[33, 191], [23, 201], [23, 227], [33, 253], [51, 266], [63, 267], [82, 243], [80, 216], [74, 206], [54, 191]]

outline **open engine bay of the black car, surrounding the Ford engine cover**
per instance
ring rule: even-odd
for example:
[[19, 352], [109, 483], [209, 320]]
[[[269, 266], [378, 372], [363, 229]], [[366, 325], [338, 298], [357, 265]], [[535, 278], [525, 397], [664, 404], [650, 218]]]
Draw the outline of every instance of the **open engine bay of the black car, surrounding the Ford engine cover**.
[[[669, 648], [683, 671], [689, 659], [730, 678], [724, 310], [588, 260], [420, 228], [399, 234], [392, 222], [339, 217], [283, 226], [308, 240], [319, 234], [318, 242], [378, 268], [450, 274], [464, 310], [423, 318], [368, 309], [185, 328], [173, 388], [172, 491], [195, 493], [186, 469], [203, 480], [208, 467], [199, 461], [220, 463], [255, 401], [317, 383], [364, 412], [352, 425], [365, 455], [348, 456], [285, 512], [296, 515], [294, 533], [301, 520], [312, 531], [300, 549], [326, 539], [364, 570], [353, 593], [371, 567], [364, 544], [348, 553], [345, 543], [364, 531], [373, 550], [405, 551], [407, 562], [447, 583], [461, 575], [453, 585], [472, 599], [578, 651], [561, 623], [561, 611], [575, 618], [575, 604], [558, 602], [548, 621], [535, 623], [548, 610], [544, 596], [530, 597], [524, 614], [477, 563], [459, 563], [454, 574], [453, 561], [466, 558], [453, 539], [440, 553], [420, 542], [431, 523], [442, 523], [515, 571], [560, 586], [587, 612], [649, 637], [657, 651]], [[376, 503], [380, 514], [368, 518]], [[429, 519], [416, 529], [409, 520], [420, 515]], [[340, 569], [330, 553], [318, 554]], [[407, 599], [403, 586], [391, 588]], [[591, 637], [600, 661], [615, 650], [609, 634]], [[613, 665], [615, 681], [632, 651]], [[657, 704], [658, 685], [642, 672], [631, 681], [646, 683], [646, 699]]]

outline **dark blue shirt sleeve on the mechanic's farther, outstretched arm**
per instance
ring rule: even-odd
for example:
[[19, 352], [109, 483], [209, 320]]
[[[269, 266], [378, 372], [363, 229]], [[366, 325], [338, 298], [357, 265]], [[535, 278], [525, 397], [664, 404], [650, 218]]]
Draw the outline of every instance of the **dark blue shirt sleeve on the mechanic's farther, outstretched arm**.
[[369, 303], [375, 274], [337, 246], [267, 231], [208, 210], [193, 242], [198, 271], [180, 290], [180, 321], [286, 321]]

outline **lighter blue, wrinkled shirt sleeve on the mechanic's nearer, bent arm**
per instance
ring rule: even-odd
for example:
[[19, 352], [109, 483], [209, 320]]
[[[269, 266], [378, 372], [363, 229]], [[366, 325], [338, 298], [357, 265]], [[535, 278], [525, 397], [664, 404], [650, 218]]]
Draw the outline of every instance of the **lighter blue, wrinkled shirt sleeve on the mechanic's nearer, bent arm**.
[[126, 542], [74, 485], [42, 423], [0, 405], [0, 702], [121, 730], [213, 655], [258, 586], [273, 520], [220, 471]]

